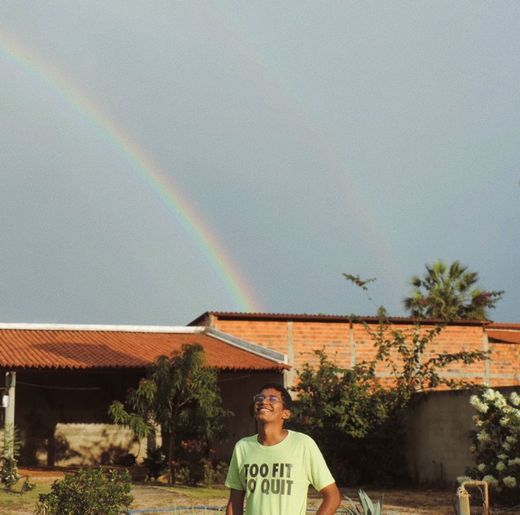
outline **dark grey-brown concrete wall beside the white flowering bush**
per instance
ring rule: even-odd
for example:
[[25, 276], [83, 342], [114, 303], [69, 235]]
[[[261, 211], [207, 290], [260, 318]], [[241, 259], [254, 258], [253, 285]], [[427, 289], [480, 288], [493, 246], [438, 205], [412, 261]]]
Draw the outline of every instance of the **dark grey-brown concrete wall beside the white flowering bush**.
[[[509, 395], [515, 388], [498, 388]], [[469, 452], [469, 431], [475, 410], [469, 404], [473, 392], [430, 392], [410, 408], [406, 456], [408, 472], [417, 484], [443, 485], [474, 466]]]

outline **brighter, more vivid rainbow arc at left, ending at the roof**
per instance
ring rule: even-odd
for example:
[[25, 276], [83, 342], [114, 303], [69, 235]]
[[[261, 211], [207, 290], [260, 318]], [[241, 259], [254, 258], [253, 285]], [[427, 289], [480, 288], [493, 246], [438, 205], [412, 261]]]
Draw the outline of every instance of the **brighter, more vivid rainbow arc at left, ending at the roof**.
[[171, 177], [134, 139], [93, 100], [83, 95], [69, 78], [15, 40], [0, 27], [0, 53], [30, 72], [59, 94], [68, 105], [94, 125], [131, 165], [141, 181], [160, 199], [195, 242], [208, 264], [229, 292], [236, 309], [260, 311], [259, 302], [224, 244], [186, 200]]

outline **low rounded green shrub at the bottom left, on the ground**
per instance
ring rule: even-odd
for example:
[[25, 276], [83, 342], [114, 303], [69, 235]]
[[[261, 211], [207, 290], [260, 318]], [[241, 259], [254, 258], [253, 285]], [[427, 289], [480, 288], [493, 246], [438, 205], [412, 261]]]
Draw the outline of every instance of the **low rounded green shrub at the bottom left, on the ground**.
[[117, 515], [133, 500], [131, 486], [128, 471], [80, 469], [55, 481], [50, 493], [40, 495], [37, 513]]

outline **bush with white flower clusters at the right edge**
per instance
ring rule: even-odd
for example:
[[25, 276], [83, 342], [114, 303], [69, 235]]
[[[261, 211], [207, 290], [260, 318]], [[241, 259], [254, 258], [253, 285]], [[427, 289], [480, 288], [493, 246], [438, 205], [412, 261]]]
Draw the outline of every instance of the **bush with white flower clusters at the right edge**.
[[[477, 412], [471, 432], [476, 466], [467, 471], [472, 479], [487, 481], [495, 498], [508, 504], [520, 502], [520, 395], [504, 396], [487, 388], [470, 397]], [[461, 476], [459, 481], [468, 479]]]

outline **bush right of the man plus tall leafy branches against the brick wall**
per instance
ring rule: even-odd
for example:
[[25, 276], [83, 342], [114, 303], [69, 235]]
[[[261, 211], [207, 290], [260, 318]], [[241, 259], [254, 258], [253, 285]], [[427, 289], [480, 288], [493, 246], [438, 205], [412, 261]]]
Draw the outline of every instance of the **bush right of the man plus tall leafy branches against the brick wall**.
[[[486, 359], [483, 352], [429, 353], [442, 326], [392, 326], [380, 310], [375, 328], [365, 329], [373, 360], [347, 369], [317, 351], [319, 364], [306, 364], [294, 388], [294, 427], [319, 443], [340, 482], [400, 482], [406, 477], [405, 415], [417, 394], [440, 385], [468, 386], [443, 374], [452, 363]], [[378, 371], [386, 373], [385, 383]]]

